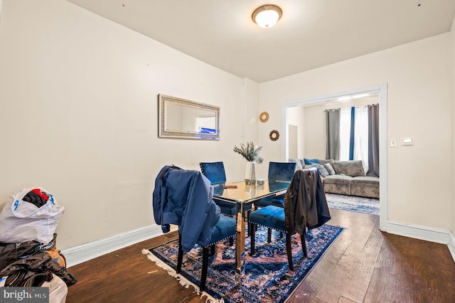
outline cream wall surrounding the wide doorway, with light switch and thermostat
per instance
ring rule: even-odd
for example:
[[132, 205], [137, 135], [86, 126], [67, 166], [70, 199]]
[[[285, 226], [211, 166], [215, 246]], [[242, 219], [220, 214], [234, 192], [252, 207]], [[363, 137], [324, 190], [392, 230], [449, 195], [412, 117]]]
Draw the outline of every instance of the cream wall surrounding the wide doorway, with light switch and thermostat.
[[[388, 149], [388, 219], [451, 230], [450, 34], [363, 55], [259, 84], [260, 107], [279, 112], [283, 102], [387, 83], [388, 138], [412, 136], [414, 147]], [[267, 128], [279, 128], [270, 119]], [[259, 124], [259, 134], [265, 129]], [[281, 147], [259, 137], [267, 157]]]

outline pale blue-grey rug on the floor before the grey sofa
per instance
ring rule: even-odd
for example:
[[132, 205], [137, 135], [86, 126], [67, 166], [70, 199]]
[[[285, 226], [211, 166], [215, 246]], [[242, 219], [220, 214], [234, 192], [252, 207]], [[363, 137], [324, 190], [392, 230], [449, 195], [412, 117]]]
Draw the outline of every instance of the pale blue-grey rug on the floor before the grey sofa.
[[326, 193], [326, 198], [328, 207], [330, 208], [379, 216], [379, 199], [343, 196], [333, 193]]

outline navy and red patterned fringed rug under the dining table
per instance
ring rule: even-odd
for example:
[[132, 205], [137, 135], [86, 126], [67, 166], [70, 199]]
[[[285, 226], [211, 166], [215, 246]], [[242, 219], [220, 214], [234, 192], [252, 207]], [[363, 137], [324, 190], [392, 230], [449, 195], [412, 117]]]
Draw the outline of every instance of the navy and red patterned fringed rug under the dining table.
[[[242, 287], [235, 285], [235, 245], [218, 243], [215, 255], [209, 258], [205, 296], [211, 302], [284, 302], [321, 259], [343, 228], [323, 225], [309, 230], [306, 235], [308, 257], [301, 252], [299, 235], [292, 236], [294, 272], [289, 271], [285, 238], [273, 233], [272, 243], [267, 243], [267, 229], [259, 227], [256, 233], [256, 252], [250, 256], [250, 238], [245, 240], [245, 276]], [[168, 274], [199, 293], [202, 267], [202, 250], [193, 248], [183, 255], [181, 274], [176, 274], [178, 241], [173, 240], [156, 248], [143, 250]]]

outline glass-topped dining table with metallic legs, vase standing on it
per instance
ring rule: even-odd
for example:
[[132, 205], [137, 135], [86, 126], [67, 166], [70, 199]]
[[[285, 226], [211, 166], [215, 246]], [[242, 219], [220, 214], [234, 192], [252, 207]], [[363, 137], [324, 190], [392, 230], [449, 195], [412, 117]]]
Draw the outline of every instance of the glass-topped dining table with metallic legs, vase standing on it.
[[[290, 181], [265, 180], [264, 184], [247, 185], [245, 181], [226, 181], [213, 184], [213, 200], [235, 204], [237, 226], [235, 235], [235, 283], [242, 285], [245, 275], [245, 219], [247, 211], [254, 211], [254, 203], [262, 198], [286, 193]], [[249, 207], [251, 206], [251, 208]]]

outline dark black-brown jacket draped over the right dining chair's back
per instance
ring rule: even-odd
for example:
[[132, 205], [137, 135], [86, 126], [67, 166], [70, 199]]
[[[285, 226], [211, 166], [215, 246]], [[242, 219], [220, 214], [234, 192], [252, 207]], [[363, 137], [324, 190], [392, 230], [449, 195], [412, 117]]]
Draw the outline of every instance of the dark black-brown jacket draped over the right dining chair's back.
[[304, 235], [306, 228], [318, 228], [331, 219], [319, 171], [296, 171], [284, 196], [286, 228], [289, 233]]

